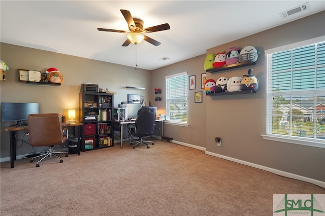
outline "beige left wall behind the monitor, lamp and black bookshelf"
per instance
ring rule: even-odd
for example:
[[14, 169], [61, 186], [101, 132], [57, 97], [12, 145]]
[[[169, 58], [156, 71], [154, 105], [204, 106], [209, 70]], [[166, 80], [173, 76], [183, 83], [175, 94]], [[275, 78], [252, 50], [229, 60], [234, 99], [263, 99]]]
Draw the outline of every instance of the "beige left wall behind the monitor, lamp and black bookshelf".
[[[82, 83], [99, 84], [115, 91], [114, 106], [126, 101], [127, 94], [145, 96], [146, 105], [153, 92], [151, 71], [123, 65], [95, 61], [76, 56], [30, 49], [1, 43], [1, 60], [9, 66], [6, 81], [1, 85], [1, 102], [39, 102], [41, 113], [59, 113], [67, 115], [68, 109], [78, 109], [79, 92]], [[45, 71], [49, 67], [57, 68], [64, 76], [61, 86], [30, 85], [18, 82], [17, 69]], [[145, 90], [129, 89], [125, 86], [145, 87]], [[152, 101], [152, 99], [151, 99]], [[9, 132], [4, 129], [13, 124], [1, 122], [1, 158], [9, 157]], [[22, 139], [23, 133], [17, 133]], [[24, 137], [24, 140], [28, 138]], [[21, 147], [20, 147], [21, 146]], [[17, 155], [29, 154], [32, 148], [25, 142], [17, 141]]]

